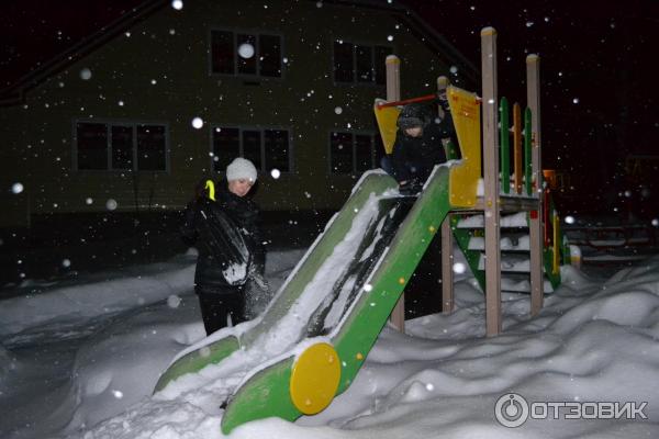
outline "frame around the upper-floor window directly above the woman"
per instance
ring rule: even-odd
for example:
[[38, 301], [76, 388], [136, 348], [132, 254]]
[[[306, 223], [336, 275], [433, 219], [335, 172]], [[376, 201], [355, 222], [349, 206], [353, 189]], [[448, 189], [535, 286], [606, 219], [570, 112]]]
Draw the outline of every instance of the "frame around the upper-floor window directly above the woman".
[[[219, 72], [213, 71], [213, 32], [230, 32], [232, 34], [233, 40], [233, 48], [234, 48], [234, 59], [233, 59], [233, 74]], [[254, 56], [256, 57], [256, 74], [243, 74], [239, 72], [238, 61], [241, 56], [238, 55], [238, 35], [252, 35], [255, 37], [255, 47], [254, 47]], [[261, 75], [261, 60], [260, 58], [260, 37], [261, 36], [277, 36], [279, 37], [279, 76], [264, 76]], [[284, 56], [284, 38], [281, 32], [267, 32], [264, 30], [254, 30], [254, 29], [243, 29], [243, 27], [221, 27], [221, 26], [211, 26], [208, 31], [208, 69], [210, 77], [232, 77], [232, 78], [241, 78], [241, 79], [267, 79], [273, 81], [281, 81], [286, 77], [286, 63], [283, 63]]]

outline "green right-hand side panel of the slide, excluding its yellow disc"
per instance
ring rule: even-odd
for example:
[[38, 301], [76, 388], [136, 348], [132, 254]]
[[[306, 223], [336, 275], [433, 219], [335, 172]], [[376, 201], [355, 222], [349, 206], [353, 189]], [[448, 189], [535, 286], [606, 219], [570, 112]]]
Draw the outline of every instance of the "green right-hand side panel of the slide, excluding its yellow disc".
[[[366, 199], [361, 201], [366, 202]], [[346, 205], [342, 212], [353, 207]], [[343, 364], [337, 393], [344, 392], [353, 382], [449, 210], [448, 169], [439, 168], [372, 273], [370, 292], [362, 292], [333, 337]], [[292, 367], [293, 357], [289, 357], [258, 372], [241, 386], [224, 413], [222, 431], [228, 434], [241, 424], [270, 416], [297, 419], [301, 413], [292, 405], [289, 391]]]

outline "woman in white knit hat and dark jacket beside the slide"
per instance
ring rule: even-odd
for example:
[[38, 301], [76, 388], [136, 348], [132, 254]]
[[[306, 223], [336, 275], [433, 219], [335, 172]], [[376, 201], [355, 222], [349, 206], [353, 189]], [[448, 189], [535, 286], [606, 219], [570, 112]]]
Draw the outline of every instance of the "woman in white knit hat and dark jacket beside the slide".
[[200, 196], [188, 205], [181, 227], [183, 240], [199, 250], [194, 291], [206, 334], [247, 319], [246, 292], [264, 282], [265, 249], [258, 227], [259, 210], [247, 199], [256, 168], [236, 158], [226, 168], [226, 181], [208, 180]]

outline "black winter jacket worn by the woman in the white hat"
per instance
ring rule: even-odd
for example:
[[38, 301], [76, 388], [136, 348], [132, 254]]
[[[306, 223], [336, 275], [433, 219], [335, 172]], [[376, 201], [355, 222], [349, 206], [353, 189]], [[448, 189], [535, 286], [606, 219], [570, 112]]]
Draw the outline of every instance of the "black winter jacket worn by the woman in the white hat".
[[180, 232], [183, 241], [199, 250], [194, 283], [205, 290], [231, 292], [231, 286], [243, 285], [250, 273], [263, 275], [259, 210], [253, 201], [225, 189], [215, 199], [201, 196], [190, 203]]

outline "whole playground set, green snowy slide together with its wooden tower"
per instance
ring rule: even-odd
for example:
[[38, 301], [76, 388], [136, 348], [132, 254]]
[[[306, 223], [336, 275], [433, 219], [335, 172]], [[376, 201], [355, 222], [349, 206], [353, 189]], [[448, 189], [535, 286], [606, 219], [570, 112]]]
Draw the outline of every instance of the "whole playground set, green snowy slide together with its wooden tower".
[[[549, 292], [543, 271], [556, 286], [562, 251], [558, 216], [541, 179], [539, 59], [527, 57], [529, 109], [524, 113], [524, 130], [521, 110], [513, 111], [514, 157], [520, 164], [511, 183], [510, 159], [504, 156], [509, 128], [503, 103], [503, 128], [501, 137], [498, 135], [495, 36], [491, 27], [481, 33], [482, 98], [447, 86], [461, 159], [435, 167], [417, 196], [401, 196], [396, 181], [381, 170], [366, 172], [266, 312], [252, 323], [222, 329], [209, 341], [181, 352], [160, 376], [156, 392], [182, 375], [238, 356], [253, 361], [247, 364], [253, 369], [227, 401], [222, 417], [224, 434], [249, 420], [271, 416], [294, 420], [322, 412], [350, 386], [387, 319], [391, 316], [404, 329], [401, 296], [438, 233], [445, 312], [455, 306], [451, 255], [456, 244], [484, 292], [488, 336], [501, 333], [502, 248], [528, 255], [529, 262], [522, 264], [530, 272], [530, 311], [539, 312], [543, 294]], [[392, 133], [395, 136], [396, 105], [405, 102], [400, 101], [399, 66], [398, 58], [388, 58], [387, 101], [377, 102], [375, 109], [388, 148]], [[451, 146], [446, 147], [449, 158], [455, 157]], [[521, 217], [528, 229], [526, 238], [514, 239], [516, 244], [511, 246], [501, 239], [507, 214], [517, 218], [507, 223], [520, 227]]]

